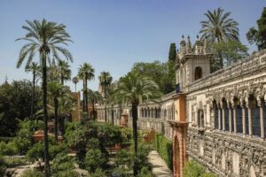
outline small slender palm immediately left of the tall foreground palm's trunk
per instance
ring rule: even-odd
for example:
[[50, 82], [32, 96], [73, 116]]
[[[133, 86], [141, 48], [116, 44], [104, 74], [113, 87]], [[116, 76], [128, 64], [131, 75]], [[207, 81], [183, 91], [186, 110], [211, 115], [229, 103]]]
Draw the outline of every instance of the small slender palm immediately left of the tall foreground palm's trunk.
[[31, 108], [30, 108], [30, 119], [33, 120], [33, 115], [35, 112], [35, 80], [36, 80], [36, 76], [39, 75], [40, 72], [40, 66], [35, 63], [32, 62], [30, 65], [26, 66], [25, 71], [28, 72], [32, 72], [33, 75], [33, 80], [32, 80], [32, 84], [33, 84], [33, 89], [32, 89], [32, 96], [31, 96]]

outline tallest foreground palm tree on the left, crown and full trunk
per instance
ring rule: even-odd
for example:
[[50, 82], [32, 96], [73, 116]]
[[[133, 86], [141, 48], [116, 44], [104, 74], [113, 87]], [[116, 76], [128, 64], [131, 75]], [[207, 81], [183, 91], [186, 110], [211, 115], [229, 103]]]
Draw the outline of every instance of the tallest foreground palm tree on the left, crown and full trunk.
[[65, 48], [60, 47], [60, 44], [67, 44], [72, 42], [70, 35], [66, 33], [66, 26], [50, 22], [43, 19], [43, 21], [27, 20], [27, 26], [22, 26], [27, 30], [27, 34], [17, 40], [27, 41], [21, 50], [20, 57], [17, 63], [19, 68], [22, 62], [27, 58], [27, 65], [29, 65], [35, 57], [36, 52], [39, 54], [40, 65], [42, 65], [43, 73], [43, 122], [44, 122], [44, 169], [45, 177], [50, 176], [49, 166], [49, 147], [48, 147], [48, 113], [47, 113], [47, 67], [46, 62], [51, 58], [59, 60], [59, 52], [63, 54], [66, 59], [72, 61], [71, 53]]

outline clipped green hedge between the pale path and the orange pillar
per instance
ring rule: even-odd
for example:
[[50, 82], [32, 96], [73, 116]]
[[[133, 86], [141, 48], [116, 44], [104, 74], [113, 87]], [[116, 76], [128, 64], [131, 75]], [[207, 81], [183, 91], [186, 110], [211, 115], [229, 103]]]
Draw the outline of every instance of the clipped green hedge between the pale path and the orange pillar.
[[164, 135], [156, 134], [154, 140], [155, 149], [158, 151], [160, 157], [164, 159], [168, 168], [173, 170], [173, 148], [172, 142]]

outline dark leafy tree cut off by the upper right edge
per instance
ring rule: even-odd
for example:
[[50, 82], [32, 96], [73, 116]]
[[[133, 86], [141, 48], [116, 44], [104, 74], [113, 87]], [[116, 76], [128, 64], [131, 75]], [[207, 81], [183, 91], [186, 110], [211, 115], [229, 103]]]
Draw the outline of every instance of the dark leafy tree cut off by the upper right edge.
[[251, 27], [246, 33], [250, 44], [256, 43], [258, 50], [266, 49], [266, 7], [263, 7], [262, 16], [257, 20], [257, 29]]

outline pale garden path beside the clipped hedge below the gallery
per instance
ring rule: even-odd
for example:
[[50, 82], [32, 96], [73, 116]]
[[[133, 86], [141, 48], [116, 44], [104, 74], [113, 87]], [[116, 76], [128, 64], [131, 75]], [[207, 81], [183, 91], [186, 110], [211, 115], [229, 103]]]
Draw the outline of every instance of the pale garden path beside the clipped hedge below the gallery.
[[173, 177], [173, 173], [169, 170], [168, 165], [160, 158], [156, 150], [152, 150], [148, 158], [149, 162], [153, 165], [153, 174], [156, 177]]

